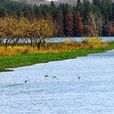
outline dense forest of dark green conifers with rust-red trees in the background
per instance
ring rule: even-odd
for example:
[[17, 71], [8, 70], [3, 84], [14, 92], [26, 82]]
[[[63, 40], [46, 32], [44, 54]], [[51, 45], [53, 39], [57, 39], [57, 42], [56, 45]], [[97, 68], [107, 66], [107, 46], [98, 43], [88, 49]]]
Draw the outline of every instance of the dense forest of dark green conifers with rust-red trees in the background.
[[29, 5], [10, 0], [0, 0], [0, 17], [15, 16], [20, 20], [46, 19], [56, 23], [53, 36], [113, 36], [114, 3], [112, 0], [77, 0], [76, 6], [69, 4]]

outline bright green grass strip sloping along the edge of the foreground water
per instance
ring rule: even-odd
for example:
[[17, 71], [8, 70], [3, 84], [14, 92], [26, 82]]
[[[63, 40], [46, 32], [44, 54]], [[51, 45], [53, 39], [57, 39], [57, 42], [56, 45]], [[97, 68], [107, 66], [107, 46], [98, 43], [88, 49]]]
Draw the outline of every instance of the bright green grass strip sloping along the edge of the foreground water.
[[91, 49], [76, 49], [69, 52], [59, 53], [37, 53], [37, 54], [21, 54], [0, 58], [0, 72], [10, 71], [5, 68], [14, 68], [20, 66], [27, 66], [36, 63], [45, 63], [49, 61], [58, 61], [64, 59], [71, 59], [80, 56], [86, 56], [89, 53], [100, 53], [106, 50], [114, 49], [114, 42], [111, 42], [108, 47], [91, 48]]

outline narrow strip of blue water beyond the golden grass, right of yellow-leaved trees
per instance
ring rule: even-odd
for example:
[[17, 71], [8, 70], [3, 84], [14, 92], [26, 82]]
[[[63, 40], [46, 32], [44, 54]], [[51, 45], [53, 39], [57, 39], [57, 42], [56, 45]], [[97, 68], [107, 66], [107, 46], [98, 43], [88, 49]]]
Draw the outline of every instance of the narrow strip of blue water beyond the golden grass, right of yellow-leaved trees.
[[[65, 38], [50, 38], [47, 41], [48, 42], [64, 42], [66, 40], [73, 40], [77, 42], [81, 42], [83, 39], [86, 39], [84, 37], [65, 37]], [[114, 41], [114, 37], [101, 37], [102, 41]]]

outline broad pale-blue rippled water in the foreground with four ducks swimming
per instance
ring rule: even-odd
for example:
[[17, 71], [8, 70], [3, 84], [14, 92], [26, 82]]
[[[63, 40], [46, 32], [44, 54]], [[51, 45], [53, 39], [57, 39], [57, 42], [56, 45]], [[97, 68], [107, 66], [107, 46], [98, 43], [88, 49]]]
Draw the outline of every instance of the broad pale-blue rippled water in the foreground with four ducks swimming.
[[0, 73], [0, 114], [114, 114], [114, 50], [14, 70]]

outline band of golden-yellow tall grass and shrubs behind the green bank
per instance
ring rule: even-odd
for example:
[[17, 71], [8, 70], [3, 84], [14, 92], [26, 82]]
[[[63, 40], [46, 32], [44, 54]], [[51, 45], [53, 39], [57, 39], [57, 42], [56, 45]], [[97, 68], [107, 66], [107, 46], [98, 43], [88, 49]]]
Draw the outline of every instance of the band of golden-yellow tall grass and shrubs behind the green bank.
[[98, 48], [98, 47], [107, 47], [108, 43], [101, 42], [99, 38], [84, 39], [81, 43], [67, 40], [62, 43], [47, 43], [46, 47], [42, 47], [40, 50], [37, 47], [32, 46], [0, 46], [0, 57], [9, 56], [9, 55], [18, 55], [25, 53], [59, 53], [66, 52], [73, 49], [86, 49], [86, 48]]

